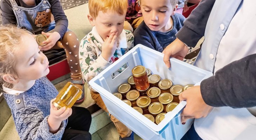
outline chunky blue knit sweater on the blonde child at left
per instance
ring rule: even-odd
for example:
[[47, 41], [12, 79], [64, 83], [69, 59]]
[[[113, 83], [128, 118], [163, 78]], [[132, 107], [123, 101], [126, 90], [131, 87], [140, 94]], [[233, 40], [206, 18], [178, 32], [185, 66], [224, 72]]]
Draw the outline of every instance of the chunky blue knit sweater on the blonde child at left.
[[[57, 94], [58, 91], [46, 77], [36, 80], [31, 89], [19, 95], [4, 93], [21, 140], [61, 139], [67, 120], [62, 121], [59, 131], [55, 134], [49, 132], [47, 121], [50, 114], [50, 100]], [[16, 103], [16, 100], [20, 100], [20, 103]]]

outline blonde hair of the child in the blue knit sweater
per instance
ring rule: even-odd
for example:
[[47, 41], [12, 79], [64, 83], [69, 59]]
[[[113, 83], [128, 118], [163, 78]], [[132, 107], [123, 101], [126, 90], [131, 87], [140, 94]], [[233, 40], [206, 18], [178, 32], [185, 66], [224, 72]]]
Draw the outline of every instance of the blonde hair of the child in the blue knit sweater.
[[[31, 33], [12, 25], [0, 26], [0, 33], [0, 84], [11, 88], [13, 84], [5, 82], [3, 75], [10, 74], [14, 79], [18, 78], [15, 69], [15, 54], [19, 52], [21, 47], [19, 44], [23, 42], [22, 36]], [[1, 88], [2, 86], [0, 86], [0, 89]]]

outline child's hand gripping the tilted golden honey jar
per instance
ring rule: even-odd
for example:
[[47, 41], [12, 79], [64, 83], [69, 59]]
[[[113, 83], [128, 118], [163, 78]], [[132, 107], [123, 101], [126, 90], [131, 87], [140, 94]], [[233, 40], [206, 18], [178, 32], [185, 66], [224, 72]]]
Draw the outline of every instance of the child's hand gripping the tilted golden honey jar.
[[66, 109], [66, 107], [61, 107], [61, 109], [58, 110], [57, 107], [52, 104], [55, 99], [50, 101], [50, 115], [48, 117], [49, 131], [53, 134], [58, 132], [61, 121], [66, 120], [72, 114], [71, 108]]

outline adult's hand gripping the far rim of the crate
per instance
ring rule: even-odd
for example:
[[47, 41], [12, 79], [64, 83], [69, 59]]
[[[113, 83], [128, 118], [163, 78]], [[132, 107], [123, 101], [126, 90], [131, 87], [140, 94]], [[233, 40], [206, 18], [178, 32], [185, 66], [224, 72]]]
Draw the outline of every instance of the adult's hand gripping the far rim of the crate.
[[170, 68], [170, 57], [174, 57], [183, 61], [184, 57], [188, 54], [188, 47], [181, 40], [176, 38], [171, 44], [169, 44], [163, 50], [163, 62], [166, 64], [167, 68]]

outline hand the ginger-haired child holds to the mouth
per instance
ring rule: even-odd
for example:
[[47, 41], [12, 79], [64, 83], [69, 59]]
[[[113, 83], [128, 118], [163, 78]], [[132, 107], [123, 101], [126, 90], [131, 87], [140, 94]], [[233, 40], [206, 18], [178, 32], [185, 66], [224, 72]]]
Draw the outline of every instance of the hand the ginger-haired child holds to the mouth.
[[102, 44], [101, 56], [106, 60], [110, 61], [110, 58], [114, 55], [117, 49], [117, 33], [111, 33], [109, 37]]

